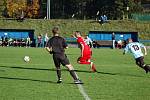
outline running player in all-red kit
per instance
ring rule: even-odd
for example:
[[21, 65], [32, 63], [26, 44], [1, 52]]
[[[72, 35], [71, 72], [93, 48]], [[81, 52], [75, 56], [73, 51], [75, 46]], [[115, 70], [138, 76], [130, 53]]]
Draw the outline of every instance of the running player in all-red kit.
[[79, 64], [89, 64], [91, 70], [96, 72], [96, 67], [93, 62], [91, 62], [92, 50], [84, 41], [84, 38], [81, 36], [81, 32], [76, 31], [74, 37], [77, 39], [77, 43], [81, 49], [81, 56], [77, 59]]

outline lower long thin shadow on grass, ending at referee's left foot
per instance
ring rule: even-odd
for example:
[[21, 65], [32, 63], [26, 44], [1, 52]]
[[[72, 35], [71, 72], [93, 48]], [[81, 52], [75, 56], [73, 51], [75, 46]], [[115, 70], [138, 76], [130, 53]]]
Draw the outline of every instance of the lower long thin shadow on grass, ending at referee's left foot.
[[27, 79], [27, 78], [14, 78], [14, 77], [0, 77], [0, 79], [7, 79], [7, 80], [22, 80], [22, 81], [34, 81], [34, 82], [46, 82], [46, 83], [53, 83], [56, 84], [56, 82], [53, 81], [45, 81], [45, 80], [36, 80], [36, 79]]

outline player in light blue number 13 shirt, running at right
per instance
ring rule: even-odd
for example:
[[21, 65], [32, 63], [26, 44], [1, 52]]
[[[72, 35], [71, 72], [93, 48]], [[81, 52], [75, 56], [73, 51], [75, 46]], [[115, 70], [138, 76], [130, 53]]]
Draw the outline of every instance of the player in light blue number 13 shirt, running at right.
[[[142, 52], [142, 48], [144, 49], [144, 54]], [[147, 55], [146, 47], [138, 42], [133, 42], [131, 38], [128, 39], [128, 44], [124, 49], [123, 54], [127, 52], [131, 52], [135, 58], [136, 64], [143, 68], [146, 73], [150, 71], [150, 66], [144, 63], [144, 55]]]

